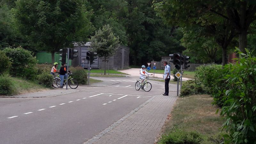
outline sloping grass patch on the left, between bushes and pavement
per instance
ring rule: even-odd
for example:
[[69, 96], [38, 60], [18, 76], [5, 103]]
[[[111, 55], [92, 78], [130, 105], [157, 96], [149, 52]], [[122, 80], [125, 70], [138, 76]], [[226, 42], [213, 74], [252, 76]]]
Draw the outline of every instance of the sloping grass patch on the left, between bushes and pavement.
[[11, 77], [14, 86], [14, 92], [12, 94], [22, 94], [26, 92], [39, 92], [43, 90], [50, 90], [44, 86], [32, 81], [24, 80], [18, 77]]

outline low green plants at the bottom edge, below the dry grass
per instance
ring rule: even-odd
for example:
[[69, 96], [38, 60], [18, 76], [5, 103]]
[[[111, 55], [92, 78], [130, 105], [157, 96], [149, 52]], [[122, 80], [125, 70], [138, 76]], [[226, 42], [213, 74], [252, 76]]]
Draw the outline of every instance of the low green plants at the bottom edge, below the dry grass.
[[158, 144], [200, 144], [203, 141], [204, 138], [200, 133], [174, 129], [168, 135], [163, 135]]

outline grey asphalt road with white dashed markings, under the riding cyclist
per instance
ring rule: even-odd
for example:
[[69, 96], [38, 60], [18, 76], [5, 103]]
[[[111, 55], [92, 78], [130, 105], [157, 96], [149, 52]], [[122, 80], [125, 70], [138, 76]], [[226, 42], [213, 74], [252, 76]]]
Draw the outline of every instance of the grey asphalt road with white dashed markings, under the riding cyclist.
[[119, 83], [84, 87], [85, 90], [55, 97], [1, 98], [0, 143], [86, 142], [153, 95], [164, 92], [164, 85], [153, 81], [150, 92], [136, 91], [136, 78], [104, 78]]

